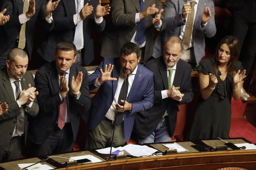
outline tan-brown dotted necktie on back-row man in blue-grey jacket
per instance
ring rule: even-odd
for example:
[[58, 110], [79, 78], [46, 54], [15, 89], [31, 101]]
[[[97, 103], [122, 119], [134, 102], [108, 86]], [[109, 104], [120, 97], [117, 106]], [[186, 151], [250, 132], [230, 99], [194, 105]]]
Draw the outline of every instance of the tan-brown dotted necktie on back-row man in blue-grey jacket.
[[197, 2], [192, 1], [190, 2], [190, 7], [191, 7], [191, 13], [188, 14], [187, 16], [187, 22], [186, 22], [186, 28], [185, 28], [185, 32], [184, 32], [184, 36], [183, 36], [183, 48], [184, 50], [187, 50], [189, 48], [190, 45], [190, 38], [191, 38], [191, 34], [192, 34], [192, 28], [193, 28], [193, 22], [194, 22], [194, 6]]

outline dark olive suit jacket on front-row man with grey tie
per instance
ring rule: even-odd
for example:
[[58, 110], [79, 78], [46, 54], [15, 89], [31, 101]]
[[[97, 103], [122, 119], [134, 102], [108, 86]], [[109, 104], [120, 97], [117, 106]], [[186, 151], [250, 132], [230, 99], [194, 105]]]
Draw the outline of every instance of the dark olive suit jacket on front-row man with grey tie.
[[[0, 101], [1, 103], [6, 102], [8, 104], [8, 111], [0, 115], [0, 154], [3, 154], [3, 151], [10, 142], [11, 136], [13, 134], [16, 117], [21, 114], [18, 103], [15, 101], [13, 88], [11, 86], [10, 78], [7, 74], [6, 67], [0, 70]], [[35, 87], [34, 77], [29, 71], [27, 71], [21, 78], [22, 89], [27, 89], [29, 83], [31, 87]], [[37, 97], [33, 101], [32, 107], [25, 111], [25, 106], [22, 106], [24, 109], [24, 127], [25, 127], [25, 143], [27, 138], [27, 129], [28, 129], [28, 117], [36, 116], [39, 110], [37, 104]]]

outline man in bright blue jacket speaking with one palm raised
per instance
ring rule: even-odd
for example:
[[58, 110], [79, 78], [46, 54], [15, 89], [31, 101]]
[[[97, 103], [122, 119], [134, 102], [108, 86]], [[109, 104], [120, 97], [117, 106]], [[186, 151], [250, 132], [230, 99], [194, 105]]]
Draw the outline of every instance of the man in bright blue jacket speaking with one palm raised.
[[[91, 99], [89, 111], [82, 114], [90, 130], [86, 141], [87, 149], [111, 145], [115, 113], [116, 110], [123, 109], [123, 91], [127, 94], [125, 112], [123, 121], [115, 127], [113, 146], [128, 142], [135, 113], [153, 106], [153, 73], [138, 63], [139, 50], [138, 45], [125, 43], [121, 48], [120, 58], [104, 58], [89, 76], [89, 90], [96, 87], [99, 90]], [[123, 85], [124, 74], [128, 75], [126, 86]]]

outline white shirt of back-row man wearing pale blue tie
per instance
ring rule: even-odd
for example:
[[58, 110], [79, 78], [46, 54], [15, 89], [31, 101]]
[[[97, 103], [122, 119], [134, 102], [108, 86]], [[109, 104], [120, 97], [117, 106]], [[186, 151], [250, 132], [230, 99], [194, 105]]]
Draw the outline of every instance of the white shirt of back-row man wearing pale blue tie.
[[[81, 1], [80, 1], [81, 9], [82, 9], [83, 6], [84, 6], [83, 3], [84, 3], [84, 0], [81, 0]], [[75, 0], [75, 10], [77, 10], [77, 0]], [[93, 9], [93, 10], [96, 10], [96, 8]], [[74, 14], [74, 15], [73, 15], [73, 19], [74, 19], [74, 24], [75, 24], [75, 25], [78, 24], [79, 22], [83, 22], [83, 20], [82, 20], [81, 17], [80, 17], [79, 12], [78, 12], [77, 14]], [[99, 17], [99, 18], [96, 19], [96, 16], [94, 15], [94, 20], [95, 20], [96, 24], [99, 25], [99, 24], [102, 23], [103, 17], [101, 16], [101, 17]], [[82, 35], [83, 35], [83, 24], [82, 24]], [[73, 41], [73, 43], [74, 43], [74, 41]], [[81, 50], [81, 49], [83, 49], [84, 47], [85, 47], [85, 44], [84, 44], [83, 36], [82, 36], [82, 45], [81, 45], [81, 47], [77, 48], [77, 50]]]

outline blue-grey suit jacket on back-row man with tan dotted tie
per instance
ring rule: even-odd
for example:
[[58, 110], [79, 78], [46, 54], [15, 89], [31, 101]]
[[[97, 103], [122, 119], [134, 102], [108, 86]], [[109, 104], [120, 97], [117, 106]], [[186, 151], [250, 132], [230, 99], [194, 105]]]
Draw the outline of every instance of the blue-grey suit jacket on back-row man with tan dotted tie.
[[[170, 36], [180, 36], [183, 26], [186, 24], [181, 18], [182, 7], [187, 0], [166, 0], [164, 5], [166, 29], [159, 33], [154, 42], [153, 57], [157, 58], [163, 55], [163, 46], [165, 40]], [[205, 27], [202, 27], [202, 14], [206, 6], [211, 10], [211, 18]], [[214, 4], [212, 0], [199, 0], [197, 14], [195, 16], [192, 32], [193, 47], [197, 63], [205, 56], [205, 37], [213, 37], [216, 33], [214, 21]]]

